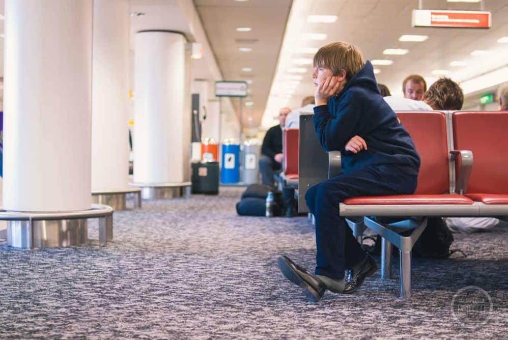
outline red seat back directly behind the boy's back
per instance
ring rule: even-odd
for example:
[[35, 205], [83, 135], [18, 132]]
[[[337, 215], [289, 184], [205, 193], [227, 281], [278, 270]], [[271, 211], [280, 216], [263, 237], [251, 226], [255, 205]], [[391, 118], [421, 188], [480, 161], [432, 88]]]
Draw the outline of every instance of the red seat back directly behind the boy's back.
[[449, 192], [449, 156], [446, 117], [437, 111], [396, 111], [420, 155], [416, 194]]

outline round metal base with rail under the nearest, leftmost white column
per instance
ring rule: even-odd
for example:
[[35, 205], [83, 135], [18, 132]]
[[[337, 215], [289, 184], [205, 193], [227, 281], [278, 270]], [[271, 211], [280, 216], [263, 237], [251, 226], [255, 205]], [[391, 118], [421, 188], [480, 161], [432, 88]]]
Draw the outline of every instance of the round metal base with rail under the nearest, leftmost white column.
[[7, 244], [16, 248], [70, 247], [88, 243], [88, 218], [99, 219], [99, 244], [113, 239], [113, 210], [92, 205], [71, 212], [0, 211], [7, 220]]

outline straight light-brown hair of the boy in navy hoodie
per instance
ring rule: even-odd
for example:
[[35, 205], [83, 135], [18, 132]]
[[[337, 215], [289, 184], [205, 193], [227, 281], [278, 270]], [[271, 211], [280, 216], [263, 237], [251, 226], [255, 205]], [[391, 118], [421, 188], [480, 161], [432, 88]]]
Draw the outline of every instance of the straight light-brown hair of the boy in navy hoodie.
[[345, 42], [325, 45], [314, 55], [314, 67], [329, 68], [334, 76], [346, 71], [349, 81], [365, 65], [361, 51]]

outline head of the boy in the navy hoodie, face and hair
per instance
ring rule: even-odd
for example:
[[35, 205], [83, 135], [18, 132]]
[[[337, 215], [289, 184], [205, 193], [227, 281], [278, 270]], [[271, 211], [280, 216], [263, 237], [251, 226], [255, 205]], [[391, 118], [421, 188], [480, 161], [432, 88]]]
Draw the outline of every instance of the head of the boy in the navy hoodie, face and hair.
[[345, 42], [334, 42], [321, 47], [314, 55], [314, 86], [318, 86], [329, 76], [337, 77], [341, 83], [337, 93], [365, 65], [361, 51]]

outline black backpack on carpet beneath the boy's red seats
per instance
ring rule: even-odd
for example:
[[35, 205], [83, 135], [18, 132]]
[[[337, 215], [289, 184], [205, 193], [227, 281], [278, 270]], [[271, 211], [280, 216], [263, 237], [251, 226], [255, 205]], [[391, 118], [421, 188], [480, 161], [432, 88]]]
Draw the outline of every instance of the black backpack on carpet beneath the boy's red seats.
[[[408, 231], [407, 235], [411, 235]], [[402, 234], [404, 235], [404, 233]], [[434, 258], [447, 259], [456, 251], [450, 250], [450, 245], [454, 241], [454, 236], [449, 231], [446, 223], [440, 217], [432, 217], [427, 220], [427, 228], [421, 233], [412, 249], [414, 258]], [[381, 237], [375, 236], [374, 245], [363, 245], [366, 252], [373, 255], [381, 254]], [[399, 254], [396, 247], [393, 247], [393, 254]]]

